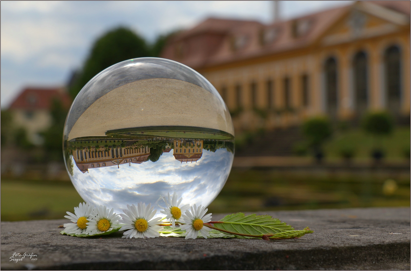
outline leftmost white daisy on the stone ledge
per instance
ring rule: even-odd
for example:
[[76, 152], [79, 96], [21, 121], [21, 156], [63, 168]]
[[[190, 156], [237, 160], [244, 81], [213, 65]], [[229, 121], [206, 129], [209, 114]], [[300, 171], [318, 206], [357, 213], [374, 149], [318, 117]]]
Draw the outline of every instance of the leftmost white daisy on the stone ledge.
[[64, 232], [66, 234], [84, 234], [87, 227], [87, 219], [90, 218], [93, 209], [90, 204], [80, 202], [79, 207], [74, 207], [74, 214], [66, 212], [68, 216], [64, 217], [72, 220], [73, 223], [65, 223], [63, 225], [65, 227]]

